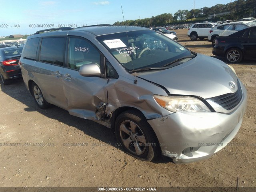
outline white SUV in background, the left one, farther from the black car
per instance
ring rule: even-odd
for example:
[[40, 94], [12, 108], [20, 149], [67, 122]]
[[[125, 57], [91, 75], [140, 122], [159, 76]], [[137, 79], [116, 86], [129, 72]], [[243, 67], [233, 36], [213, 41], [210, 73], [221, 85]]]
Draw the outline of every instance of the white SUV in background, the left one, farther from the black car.
[[197, 38], [203, 40], [204, 38], [207, 38], [210, 29], [212, 29], [216, 25], [218, 24], [211, 22], [192, 24], [192, 26], [188, 28], [188, 37], [190, 37], [192, 41], [196, 41]]

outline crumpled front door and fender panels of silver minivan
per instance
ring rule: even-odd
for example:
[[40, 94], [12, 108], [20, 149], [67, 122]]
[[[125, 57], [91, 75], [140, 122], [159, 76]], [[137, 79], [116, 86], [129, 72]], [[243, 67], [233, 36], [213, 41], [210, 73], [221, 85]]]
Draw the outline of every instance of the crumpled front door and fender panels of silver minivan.
[[[83, 77], [78, 71], [65, 68], [63, 74], [70, 74], [71, 80], [63, 78], [63, 89], [71, 115], [96, 120], [110, 127], [110, 114], [120, 107], [140, 110], [147, 119], [171, 114], [160, 108], [153, 94], [166, 94], [164, 90], [145, 80], [105, 79]], [[155, 90], [156, 92], [151, 92]]]

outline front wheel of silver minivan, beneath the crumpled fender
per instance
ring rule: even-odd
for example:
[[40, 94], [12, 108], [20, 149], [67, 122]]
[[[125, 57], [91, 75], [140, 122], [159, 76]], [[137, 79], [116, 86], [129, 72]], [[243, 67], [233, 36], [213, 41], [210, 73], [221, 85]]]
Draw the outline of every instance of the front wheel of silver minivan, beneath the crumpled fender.
[[124, 151], [134, 158], [151, 161], [159, 155], [156, 135], [140, 112], [121, 113], [116, 118], [115, 134]]

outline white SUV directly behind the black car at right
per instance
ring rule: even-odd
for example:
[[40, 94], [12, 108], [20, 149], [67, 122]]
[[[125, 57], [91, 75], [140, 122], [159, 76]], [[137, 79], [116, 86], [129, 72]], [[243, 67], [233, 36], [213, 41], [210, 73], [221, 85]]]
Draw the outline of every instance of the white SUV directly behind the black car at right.
[[240, 22], [224, 22], [218, 24], [209, 31], [208, 41], [212, 42], [212, 46], [215, 46], [215, 40], [217, 36], [229, 36], [235, 32], [243, 30], [245, 28], [256, 26], [256, 22], [252, 21], [240, 21]]

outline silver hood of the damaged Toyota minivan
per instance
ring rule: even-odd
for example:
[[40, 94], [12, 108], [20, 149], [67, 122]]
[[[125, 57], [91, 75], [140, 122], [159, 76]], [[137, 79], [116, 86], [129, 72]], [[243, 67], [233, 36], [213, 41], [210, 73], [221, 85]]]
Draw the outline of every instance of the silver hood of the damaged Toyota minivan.
[[[212, 98], [237, 90], [237, 76], [224, 62], [202, 54], [195, 58], [160, 71], [138, 74], [140, 78], [164, 86], [170, 94], [194, 95]], [[236, 84], [233, 90], [229, 86]]]

